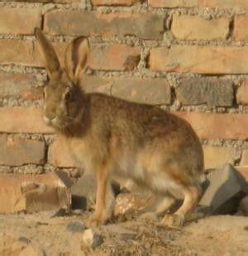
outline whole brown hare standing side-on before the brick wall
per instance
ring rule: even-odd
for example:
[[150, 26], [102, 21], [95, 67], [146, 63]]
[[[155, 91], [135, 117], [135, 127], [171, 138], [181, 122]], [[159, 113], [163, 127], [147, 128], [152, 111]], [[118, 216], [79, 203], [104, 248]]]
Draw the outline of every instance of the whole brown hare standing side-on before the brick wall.
[[64, 69], [40, 29], [36, 38], [50, 77], [44, 89], [45, 123], [64, 138], [74, 159], [96, 175], [93, 223], [104, 224], [111, 217], [110, 177], [118, 175], [162, 195], [160, 212], [184, 198], [179, 210], [161, 218], [162, 225], [184, 225], [202, 194], [203, 148], [193, 128], [149, 104], [83, 92], [79, 82], [83, 85], [80, 76], [88, 65], [87, 38], [78, 37], [68, 46]]

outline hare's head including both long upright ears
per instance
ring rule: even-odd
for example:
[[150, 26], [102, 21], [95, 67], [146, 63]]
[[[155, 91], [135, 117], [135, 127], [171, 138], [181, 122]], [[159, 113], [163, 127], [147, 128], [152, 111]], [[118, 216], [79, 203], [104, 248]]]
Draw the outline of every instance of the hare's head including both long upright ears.
[[64, 58], [64, 68], [54, 47], [36, 28], [36, 38], [41, 46], [49, 81], [44, 89], [44, 120], [50, 126], [66, 132], [79, 125], [83, 114], [83, 91], [79, 88], [79, 76], [88, 60], [88, 40], [81, 36], [68, 46]]

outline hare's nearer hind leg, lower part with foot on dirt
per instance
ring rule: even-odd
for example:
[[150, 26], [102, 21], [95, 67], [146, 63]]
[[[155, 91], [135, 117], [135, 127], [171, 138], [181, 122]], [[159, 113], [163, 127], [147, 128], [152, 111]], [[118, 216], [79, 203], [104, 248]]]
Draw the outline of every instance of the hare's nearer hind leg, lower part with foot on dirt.
[[183, 226], [186, 217], [192, 213], [198, 204], [198, 200], [201, 196], [201, 189], [199, 186], [184, 186], [182, 187], [182, 191], [184, 193], [183, 205], [181, 205], [179, 210], [177, 210], [174, 214], [165, 215], [161, 221], [162, 225], [169, 225], [174, 227]]

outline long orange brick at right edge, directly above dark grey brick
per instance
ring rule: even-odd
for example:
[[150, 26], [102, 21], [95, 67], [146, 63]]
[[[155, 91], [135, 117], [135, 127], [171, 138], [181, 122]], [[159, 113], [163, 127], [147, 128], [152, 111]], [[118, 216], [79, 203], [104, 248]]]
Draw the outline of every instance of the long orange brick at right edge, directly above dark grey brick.
[[150, 69], [199, 74], [248, 73], [248, 47], [171, 46], [150, 50]]

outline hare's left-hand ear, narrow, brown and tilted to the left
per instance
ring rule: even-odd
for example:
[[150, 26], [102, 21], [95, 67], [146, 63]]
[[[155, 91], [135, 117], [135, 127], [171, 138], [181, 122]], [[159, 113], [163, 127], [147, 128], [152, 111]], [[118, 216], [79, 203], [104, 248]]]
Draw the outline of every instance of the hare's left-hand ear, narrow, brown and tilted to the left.
[[54, 47], [45, 38], [45, 35], [40, 28], [35, 30], [36, 38], [41, 46], [41, 53], [45, 60], [46, 70], [51, 80], [56, 80], [60, 77], [60, 61], [56, 55]]

